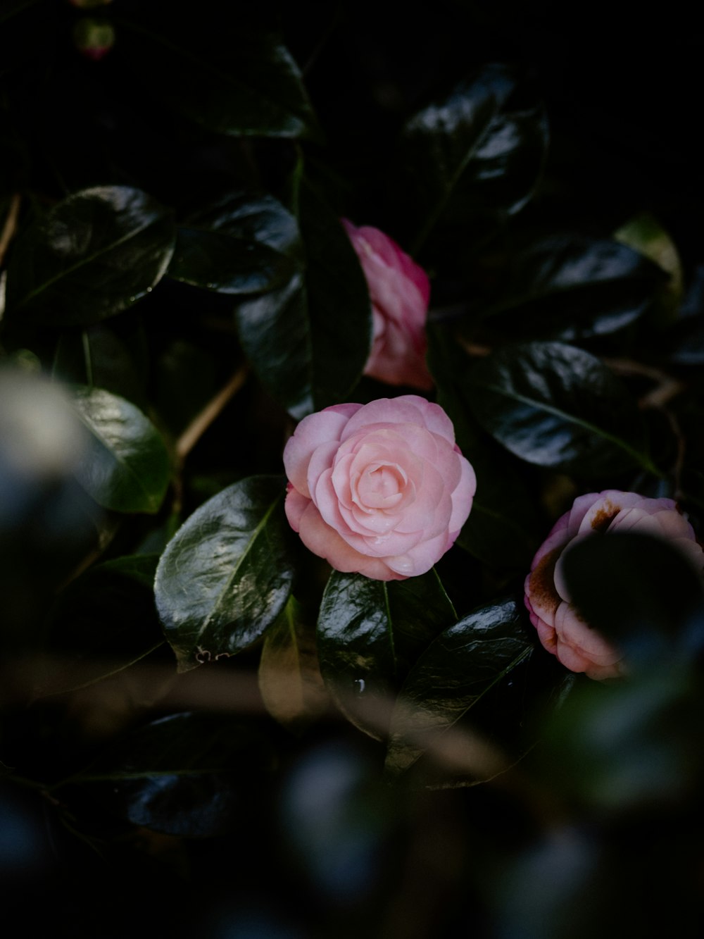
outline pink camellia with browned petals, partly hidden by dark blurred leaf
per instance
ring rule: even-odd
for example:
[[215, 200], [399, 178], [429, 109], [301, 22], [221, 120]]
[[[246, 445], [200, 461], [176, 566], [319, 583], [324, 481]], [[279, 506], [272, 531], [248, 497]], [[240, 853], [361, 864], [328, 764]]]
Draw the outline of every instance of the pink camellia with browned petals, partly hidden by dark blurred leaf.
[[580, 618], [562, 573], [567, 549], [593, 531], [637, 531], [665, 538], [699, 572], [704, 568], [704, 551], [673, 500], [647, 499], [635, 492], [590, 492], [575, 499], [570, 511], [555, 523], [526, 577], [530, 622], [544, 648], [568, 669], [584, 671], [589, 678], [615, 678], [624, 670], [619, 650]]

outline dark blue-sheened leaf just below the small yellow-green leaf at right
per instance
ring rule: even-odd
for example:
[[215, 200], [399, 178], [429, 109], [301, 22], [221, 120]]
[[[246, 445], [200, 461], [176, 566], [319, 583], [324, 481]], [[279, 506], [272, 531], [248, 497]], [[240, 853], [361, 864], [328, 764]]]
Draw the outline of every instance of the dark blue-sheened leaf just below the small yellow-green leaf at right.
[[513, 253], [505, 288], [478, 314], [513, 340], [569, 342], [619, 331], [642, 316], [666, 285], [647, 256], [619, 241], [554, 235]]

